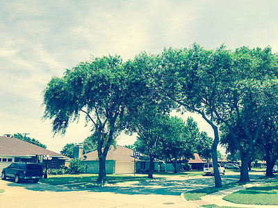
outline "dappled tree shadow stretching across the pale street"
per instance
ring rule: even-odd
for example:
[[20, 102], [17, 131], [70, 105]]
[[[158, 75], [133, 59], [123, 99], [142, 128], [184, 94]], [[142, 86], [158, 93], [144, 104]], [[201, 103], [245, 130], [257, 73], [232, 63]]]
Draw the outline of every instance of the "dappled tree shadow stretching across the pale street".
[[[224, 177], [223, 183], [236, 182], [238, 177]], [[72, 189], [63, 185], [50, 185], [43, 183], [33, 183], [24, 181], [20, 184], [13, 180], [7, 180], [8, 187], [24, 187], [31, 191], [88, 191], [88, 192], [107, 192], [107, 193], [121, 193], [128, 195], [165, 195], [165, 196], [179, 196], [181, 193], [193, 189], [201, 189], [204, 187], [214, 186], [214, 177], [197, 177], [185, 178], [184, 180], [163, 180], [163, 181], [146, 181], [126, 184], [115, 184], [104, 187], [95, 187], [90, 189]]]

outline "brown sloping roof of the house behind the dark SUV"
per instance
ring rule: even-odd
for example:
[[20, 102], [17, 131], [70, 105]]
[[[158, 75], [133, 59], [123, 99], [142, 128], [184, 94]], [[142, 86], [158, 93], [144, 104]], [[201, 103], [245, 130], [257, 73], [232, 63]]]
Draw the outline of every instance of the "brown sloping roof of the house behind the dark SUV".
[[26, 156], [26, 155], [50, 155], [60, 156], [51, 150], [22, 141], [15, 137], [0, 137], [0, 155]]

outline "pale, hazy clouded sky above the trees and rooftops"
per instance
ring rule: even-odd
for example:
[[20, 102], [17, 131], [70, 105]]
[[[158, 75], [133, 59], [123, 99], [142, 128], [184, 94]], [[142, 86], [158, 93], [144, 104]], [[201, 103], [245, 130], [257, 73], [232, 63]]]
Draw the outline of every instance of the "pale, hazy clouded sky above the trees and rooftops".
[[[161, 53], [164, 48], [271, 46], [278, 52], [278, 1], [0, 1], [0, 135], [27, 133], [57, 153], [90, 135], [84, 119], [54, 137], [42, 120], [42, 92], [52, 77], [93, 56]], [[200, 130], [212, 130], [197, 115]], [[136, 136], [121, 135], [118, 144]]]

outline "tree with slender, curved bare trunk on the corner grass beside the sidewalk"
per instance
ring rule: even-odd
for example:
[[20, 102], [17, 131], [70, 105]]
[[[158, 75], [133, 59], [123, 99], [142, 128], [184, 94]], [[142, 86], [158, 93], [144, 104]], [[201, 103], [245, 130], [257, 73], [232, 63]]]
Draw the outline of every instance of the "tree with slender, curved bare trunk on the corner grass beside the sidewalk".
[[162, 53], [158, 83], [161, 93], [175, 101], [181, 110], [195, 112], [211, 125], [214, 132], [211, 153], [214, 167], [215, 187], [222, 187], [218, 170], [217, 147], [219, 143], [218, 121], [215, 109], [223, 98], [221, 86], [229, 76], [231, 54], [223, 46], [215, 51], [193, 44], [190, 49], [165, 49]]

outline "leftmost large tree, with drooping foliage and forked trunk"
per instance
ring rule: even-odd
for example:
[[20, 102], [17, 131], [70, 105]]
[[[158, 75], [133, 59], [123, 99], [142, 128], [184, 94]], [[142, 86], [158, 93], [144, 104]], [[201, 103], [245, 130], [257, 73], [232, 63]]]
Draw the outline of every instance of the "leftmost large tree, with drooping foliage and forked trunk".
[[65, 133], [69, 124], [85, 115], [97, 141], [99, 177], [106, 182], [106, 155], [123, 128], [127, 98], [132, 97], [120, 56], [104, 56], [67, 69], [44, 89], [44, 119], [52, 120], [54, 134]]

